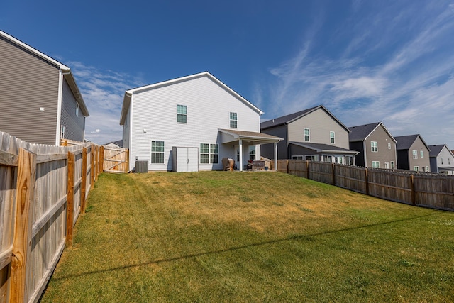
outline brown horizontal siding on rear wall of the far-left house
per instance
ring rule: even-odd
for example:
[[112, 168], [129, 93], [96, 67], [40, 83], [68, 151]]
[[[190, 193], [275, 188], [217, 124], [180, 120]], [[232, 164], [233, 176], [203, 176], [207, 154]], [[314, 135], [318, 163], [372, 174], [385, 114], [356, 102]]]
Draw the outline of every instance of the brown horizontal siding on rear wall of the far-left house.
[[0, 36], [0, 71], [0, 130], [55, 145], [58, 67]]

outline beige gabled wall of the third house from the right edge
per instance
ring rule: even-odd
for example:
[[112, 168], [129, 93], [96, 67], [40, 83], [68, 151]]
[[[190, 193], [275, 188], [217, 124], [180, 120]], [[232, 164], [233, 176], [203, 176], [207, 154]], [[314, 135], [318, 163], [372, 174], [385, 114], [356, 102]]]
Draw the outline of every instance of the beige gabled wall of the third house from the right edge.
[[[377, 152], [372, 152], [372, 141], [377, 142]], [[391, 145], [390, 148], [388, 148], [388, 143]], [[372, 167], [372, 161], [379, 161], [380, 168], [386, 168], [384, 166], [385, 162], [389, 163], [387, 168], [391, 168], [391, 162], [394, 162], [394, 168], [397, 168], [396, 143], [394, 143], [394, 140], [384, 130], [382, 125], [375, 128], [375, 131], [372, 131], [370, 136], [366, 138], [365, 150], [367, 161], [365, 167]]]

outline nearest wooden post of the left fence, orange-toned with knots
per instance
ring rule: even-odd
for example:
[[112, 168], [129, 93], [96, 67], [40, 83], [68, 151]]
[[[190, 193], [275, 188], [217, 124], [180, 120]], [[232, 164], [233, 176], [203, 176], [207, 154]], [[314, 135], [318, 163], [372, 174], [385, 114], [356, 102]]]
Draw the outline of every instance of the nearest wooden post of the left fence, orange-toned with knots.
[[18, 157], [16, 192], [16, 226], [11, 259], [11, 302], [28, 299], [26, 290], [27, 258], [31, 249], [31, 208], [36, 181], [36, 155], [21, 148]]

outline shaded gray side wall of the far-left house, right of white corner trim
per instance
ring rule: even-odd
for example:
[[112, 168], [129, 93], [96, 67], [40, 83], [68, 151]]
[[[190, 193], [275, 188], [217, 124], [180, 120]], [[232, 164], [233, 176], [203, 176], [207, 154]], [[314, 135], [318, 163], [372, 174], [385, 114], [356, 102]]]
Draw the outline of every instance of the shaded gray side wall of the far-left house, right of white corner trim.
[[62, 99], [62, 119], [61, 124], [65, 126], [65, 139], [83, 142], [85, 129], [85, 116], [79, 108], [76, 115], [77, 101], [74, 94], [67, 84], [63, 81], [63, 99]]

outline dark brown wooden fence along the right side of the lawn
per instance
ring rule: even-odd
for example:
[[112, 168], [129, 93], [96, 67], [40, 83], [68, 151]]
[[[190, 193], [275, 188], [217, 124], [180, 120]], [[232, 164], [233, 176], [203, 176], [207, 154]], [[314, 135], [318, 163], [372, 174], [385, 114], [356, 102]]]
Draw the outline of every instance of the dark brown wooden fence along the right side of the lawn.
[[381, 199], [454, 211], [454, 176], [309, 160], [277, 160], [277, 170]]

